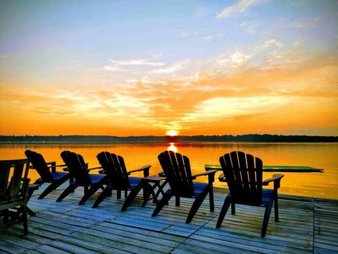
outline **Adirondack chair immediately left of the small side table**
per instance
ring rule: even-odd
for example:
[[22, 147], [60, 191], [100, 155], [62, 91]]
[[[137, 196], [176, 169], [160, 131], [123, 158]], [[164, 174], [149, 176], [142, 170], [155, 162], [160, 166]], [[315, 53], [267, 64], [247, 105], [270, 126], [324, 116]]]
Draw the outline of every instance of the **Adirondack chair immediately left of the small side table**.
[[130, 177], [130, 174], [138, 171], [143, 171], [143, 175], [149, 176], [149, 169], [151, 165], [146, 165], [140, 169], [127, 171], [125, 167], [125, 160], [120, 155], [115, 155], [110, 152], [100, 152], [97, 156], [101, 167], [104, 169], [104, 173], [108, 176], [109, 183], [106, 185], [104, 191], [99, 195], [99, 198], [94, 202], [94, 207], [98, 207], [99, 204], [111, 195], [113, 190], [116, 190], [118, 195], [117, 198], [121, 197], [121, 191], [131, 191], [128, 195], [125, 203], [123, 204], [122, 211], [125, 211], [130, 205], [130, 202], [136, 197], [137, 193], [144, 188], [142, 179], [139, 177]]

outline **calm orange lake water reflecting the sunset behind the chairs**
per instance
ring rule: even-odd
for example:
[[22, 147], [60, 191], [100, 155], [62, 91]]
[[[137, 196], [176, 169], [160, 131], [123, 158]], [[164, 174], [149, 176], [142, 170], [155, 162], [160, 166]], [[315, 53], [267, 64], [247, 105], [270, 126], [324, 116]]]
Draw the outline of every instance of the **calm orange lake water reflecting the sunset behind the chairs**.
[[[81, 154], [89, 167], [99, 166], [96, 159], [99, 152], [109, 151], [124, 157], [127, 170], [151, 164], [151, 174], [161, 171], [157, 155], [167, 149], [187, 155], [193, 174], [204, 171], [204, 164], [218, 164], [218, 158], [226, 152], [241, 150], [260, 157], [265, 165], [324, 169], [324, 173], [283, 173], [280, 193], [338, 199], [338, 143], [1, 144], [0, 159], [23, 158], [26, 149], [40, 152], [46, 161], [56, 161], [57, 164], [63, 164], [60, 153], [70, 150]], [[276, 173], [264, 173], [263, 179], [273, 174]], [[35, 171], [31, 170], [32, 181], [37, 177]], [[215, 186], [227, 187], [226, 183], [220, 183], [218, 179]]]

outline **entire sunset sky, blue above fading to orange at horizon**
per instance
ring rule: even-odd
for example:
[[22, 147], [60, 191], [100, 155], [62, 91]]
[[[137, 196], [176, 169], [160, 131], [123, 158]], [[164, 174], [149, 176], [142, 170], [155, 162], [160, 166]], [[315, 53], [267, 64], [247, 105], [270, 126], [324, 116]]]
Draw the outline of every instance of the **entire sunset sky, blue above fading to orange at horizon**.
[[0, 135], [338, 135], [338, 1], [0, 1]]

